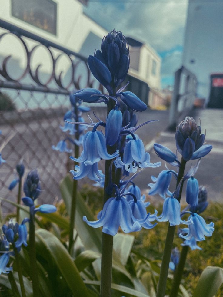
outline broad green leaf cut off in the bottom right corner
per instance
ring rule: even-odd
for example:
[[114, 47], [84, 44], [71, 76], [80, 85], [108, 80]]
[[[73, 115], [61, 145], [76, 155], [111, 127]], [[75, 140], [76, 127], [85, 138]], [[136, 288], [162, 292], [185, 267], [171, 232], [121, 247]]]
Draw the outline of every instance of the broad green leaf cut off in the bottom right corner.
[[212, 297], [223, 283], [223, 269], [221, 267], [208, 266], [201, 273], [193, 297]]

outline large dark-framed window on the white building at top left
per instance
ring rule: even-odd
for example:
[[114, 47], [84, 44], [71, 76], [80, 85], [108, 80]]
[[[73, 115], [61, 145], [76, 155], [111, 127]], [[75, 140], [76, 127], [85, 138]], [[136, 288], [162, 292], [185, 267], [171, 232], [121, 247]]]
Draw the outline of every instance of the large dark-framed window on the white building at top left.
[[56, 35], [57, 4], [52, 0], [12, 0], [12, 16]]

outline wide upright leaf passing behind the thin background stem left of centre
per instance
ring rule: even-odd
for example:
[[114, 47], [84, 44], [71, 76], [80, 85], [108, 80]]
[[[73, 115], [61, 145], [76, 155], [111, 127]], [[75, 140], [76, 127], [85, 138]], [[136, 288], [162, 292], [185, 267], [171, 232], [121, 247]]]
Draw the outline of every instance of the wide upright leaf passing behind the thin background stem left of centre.
[[[72, 189], [73, 181], [71, 177], [67, 175], [60, 183], [60, 190], [68, 211], [71, 209]], [[91, 249], [94, 252], [101, 252], [102, 232], [100, 229], [88, 226], [88, 224], [83, 221], [83, 216], [87, 216], [89, 221], [95, 220], [85, 201], [80, 194], [78, 194], [75, 213], [75, 229], [86, 249]]]

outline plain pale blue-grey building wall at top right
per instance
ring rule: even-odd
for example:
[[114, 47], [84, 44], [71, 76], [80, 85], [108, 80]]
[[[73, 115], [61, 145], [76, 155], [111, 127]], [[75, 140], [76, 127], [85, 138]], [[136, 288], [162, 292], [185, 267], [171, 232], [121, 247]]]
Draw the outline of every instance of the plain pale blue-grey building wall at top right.
[[222, 0], [189, 0], [182, 65], [198, 79], [198, 97], [208, 99], [210, 74], [223, 72]]

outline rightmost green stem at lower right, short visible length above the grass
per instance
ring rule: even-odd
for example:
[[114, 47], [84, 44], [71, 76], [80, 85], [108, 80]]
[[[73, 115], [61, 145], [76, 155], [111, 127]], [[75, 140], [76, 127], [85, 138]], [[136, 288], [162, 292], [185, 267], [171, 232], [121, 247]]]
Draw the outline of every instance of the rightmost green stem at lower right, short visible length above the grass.
[[189, 250], [189, 246], [183, 246], [183, 248], [181, 250], [180, 261], [179, 261], [178, 266], [174, 273], [172, 289], [171, 289], [171, 293], [170, 293], [169, 297], [177, 297], [181, 279], [182, 279], [182, 275], [183, 275], [183, 271], [184, 271], [184, 266], [185, 266], [188, 250]]

